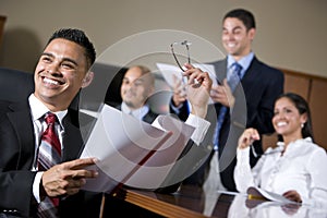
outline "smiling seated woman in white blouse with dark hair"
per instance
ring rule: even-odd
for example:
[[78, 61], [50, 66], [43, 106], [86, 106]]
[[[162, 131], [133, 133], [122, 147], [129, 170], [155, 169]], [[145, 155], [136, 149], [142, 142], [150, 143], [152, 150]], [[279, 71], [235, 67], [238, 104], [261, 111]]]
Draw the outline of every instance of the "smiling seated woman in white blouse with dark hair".
[[327, 155], [314, 143], [307, 102], [298, 94], [282, 94], [275, 102], [272, 123], [282, 142], [277, 148], [269, 147], [253, 169], [249, 153], [251, 144], [259, 140], [258, 132], [247, 129], [241, 135], [234, 170], [238, 191], [256, 186], [293, 202], [326, 207]]

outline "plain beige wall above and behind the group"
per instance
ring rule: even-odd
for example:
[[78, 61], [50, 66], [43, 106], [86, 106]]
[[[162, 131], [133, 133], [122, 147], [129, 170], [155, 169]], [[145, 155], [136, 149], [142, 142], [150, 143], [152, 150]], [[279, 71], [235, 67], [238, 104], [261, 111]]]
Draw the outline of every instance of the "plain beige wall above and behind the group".
[[98, 55], [154, 29], [189, 32], [221, 48], [221, 19], [239, 7], [255, 14], [254, 51], [261, 60], [327, 77], [325, 0], [1, 0], [0, 14], [8, 20], [0, 65], [33, 71], [51, 33], [68, 26], [83, 28]]

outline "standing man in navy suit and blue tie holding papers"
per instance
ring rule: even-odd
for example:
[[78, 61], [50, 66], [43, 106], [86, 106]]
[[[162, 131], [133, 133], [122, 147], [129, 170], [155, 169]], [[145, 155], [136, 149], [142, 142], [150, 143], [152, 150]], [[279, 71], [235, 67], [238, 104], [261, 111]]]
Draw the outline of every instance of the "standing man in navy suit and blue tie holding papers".
[[[272, 133], [274, 101], [283, 93], [282, 72], [261, 62], [252, 50], [255, 33], [255, 20], [251, 12], [243, 9], [228, 12], [222, 20], [221, 35], [221, 41], [228, 55], [226, 59], [211, 63], [215, 65], [219, 85], [213, 86], [210, 97], [215, 102], [218, 120], [215, 121], [215, 124], [220, 125], [213, 133], [213, 156], [219, 159], [220, 173], [216, 173], [216, 175], [220, 174], [222, 189], [229, 191], [237, 191], [233, 169], [240, 134], [245, 128], [255, 128], [259, 134]], [[235, 88], [231, 88], [229, 73], [235, 62], [239, 65], [240, 83]], [[178, 114], [183, 120], [187, 114], [189, 104], [187, 97], [182, 95], [181, 85], [181, 83], [177, 83], [174, 87], [170, 112]], [[244, 109], [239, 107], [241, 104], [244, 105]], [[220, 112], [221, 108], [225, 108], [223, 116]], [[214, 121], [211, 123], [214, 125]], [[261, 142], [254, 144], [253, 147], [255, 153], [263, 153]], [[254, 156], [251, 156], [252, 166], [256, 160]], [[210, 158], [184, 183], [202, 185], [207, 177], [206, 170], [209, 162]], [[218, 184], [216, 187], [221, 189]]]

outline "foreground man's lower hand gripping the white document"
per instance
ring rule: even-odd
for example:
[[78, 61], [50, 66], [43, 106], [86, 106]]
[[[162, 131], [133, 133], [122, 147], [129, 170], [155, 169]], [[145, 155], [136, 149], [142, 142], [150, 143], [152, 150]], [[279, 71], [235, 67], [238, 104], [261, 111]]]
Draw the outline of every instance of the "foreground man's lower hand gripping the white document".
[[41, 195], [58, 197], [76, 194], [86, 183], [85, 179], [98, 175], [98, 172], [85, 169], [95, 164], [95, 158], [85, 158], [53, 166], [41, 177]]

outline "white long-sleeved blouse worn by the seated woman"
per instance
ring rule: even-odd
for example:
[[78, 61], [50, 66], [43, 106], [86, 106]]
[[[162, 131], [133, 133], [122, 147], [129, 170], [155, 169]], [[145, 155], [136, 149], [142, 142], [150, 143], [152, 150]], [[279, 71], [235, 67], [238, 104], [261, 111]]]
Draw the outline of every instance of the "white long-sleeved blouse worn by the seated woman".
[[[279, 143], [279, 146], [283, 146]], [[327, 155], [326, 150], [312, 142], [311, 137], [288, 145], [281, 156], [280, 147], [269, 147], [256, 166], [250, 167], [250, 147], [238, 148], [234, 180], [240, 192], [249, 186], [283, 194], [295, 190], [303, 204], [315, 207], [327, 206]]]

